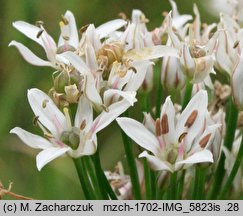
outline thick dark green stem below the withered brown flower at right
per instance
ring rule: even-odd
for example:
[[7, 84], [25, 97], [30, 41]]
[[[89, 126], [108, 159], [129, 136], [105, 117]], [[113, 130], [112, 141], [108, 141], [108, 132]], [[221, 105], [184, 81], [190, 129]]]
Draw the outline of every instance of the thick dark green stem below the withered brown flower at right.
[[[232, 144], [235, 137], [235, 130], [237, 127], [237, 119], [238, 119], [238, 110], [235, 107], [232, 99], [229, 101], [229, 110], [227, 110], [227, 128], [226, 128], [226, 135], [224, 139], [224, 146], [231, 150]], [[224, 161], [225, 155], [221, 154], [218, 167], [215, 172], [215, 179], [214, 184], [212, 185], [212, 189], [209, 193], [209, 199], [216, 199], [217, 195], [219, 194], [222, 181], [224, 179]]]

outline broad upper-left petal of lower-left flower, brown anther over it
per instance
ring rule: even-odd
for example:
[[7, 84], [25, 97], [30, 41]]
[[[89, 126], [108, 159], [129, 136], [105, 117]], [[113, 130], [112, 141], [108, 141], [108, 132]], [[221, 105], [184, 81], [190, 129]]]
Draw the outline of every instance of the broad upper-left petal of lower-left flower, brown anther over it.
[[39, 89], [28, 90], [29, 104], [38, 116], [38, 120], [58, 138], [67, 129], [64, 114], [57, 108], [52, 99]]

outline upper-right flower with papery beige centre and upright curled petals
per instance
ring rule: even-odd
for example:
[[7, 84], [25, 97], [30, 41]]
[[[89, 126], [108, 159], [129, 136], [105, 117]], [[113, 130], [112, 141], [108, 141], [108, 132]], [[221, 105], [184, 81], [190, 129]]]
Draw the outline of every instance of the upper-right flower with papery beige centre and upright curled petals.
[[[201, 33], [200, 15], [196, 6], [194, 6], [196, 18], [189, 27], [189, 38], [180, 38], [172, 28], [171, 13], [166, 17], [167, 31], [171, 39], [172, 46], [179, 50], [180, 67], [183, 73], [192, 83], [199, 83], [205, 80], [209, 73], [213, 72], [214, 60], [212, 56], [212, 43], [210, 40], [204, 41], [206, 36]], [[204, 30], [209, 37], [209, 31]]]

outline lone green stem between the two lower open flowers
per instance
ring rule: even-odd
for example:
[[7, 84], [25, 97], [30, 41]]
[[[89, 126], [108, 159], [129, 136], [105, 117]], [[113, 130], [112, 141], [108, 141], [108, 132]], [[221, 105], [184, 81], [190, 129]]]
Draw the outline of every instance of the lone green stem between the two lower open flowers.
[[134, 198], [140, 200], [141, 199], [140, 183], [138, 178], [136, 162], [133, 156], [132, 142], [129, 139], [129, 137], [123, 132], [123, 130], [121, 130], [121, 133], [122, 133], [122, 140], [124, 144], [125, 153], [127, 156], [127, 163], [128, 163], [129, 173], [131, 177]]

